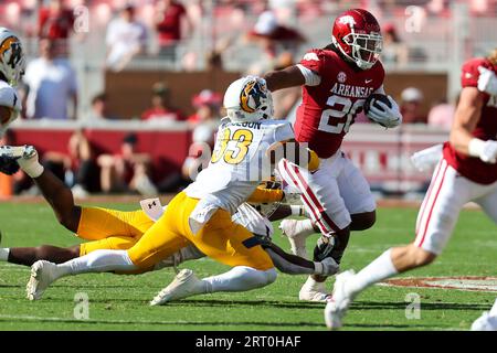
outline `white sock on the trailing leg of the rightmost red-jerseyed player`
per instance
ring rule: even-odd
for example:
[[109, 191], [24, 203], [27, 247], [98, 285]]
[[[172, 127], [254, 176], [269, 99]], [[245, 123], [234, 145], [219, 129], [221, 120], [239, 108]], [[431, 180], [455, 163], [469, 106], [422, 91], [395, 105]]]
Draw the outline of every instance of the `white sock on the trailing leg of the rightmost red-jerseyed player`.
[[392, 249], [390, 248], [361, 269], [347, 282], [347, 290], [350, 290], [350, 292], [355, 295], [369, 286], [396, 275], [399, 271], [395, 266], [393, 266], [391, 253]]

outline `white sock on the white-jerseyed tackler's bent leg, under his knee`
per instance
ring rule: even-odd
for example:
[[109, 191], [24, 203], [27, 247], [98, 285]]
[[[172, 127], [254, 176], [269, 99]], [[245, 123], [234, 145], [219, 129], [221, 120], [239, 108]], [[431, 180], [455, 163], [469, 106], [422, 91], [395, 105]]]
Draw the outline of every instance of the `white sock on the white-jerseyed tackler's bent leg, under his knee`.
[[245, 291], [267, 286], [276, 280], [274, 268], [262, 271], [247, 266], [233, 267], [228, 272], [203, 278], [204, 292]]

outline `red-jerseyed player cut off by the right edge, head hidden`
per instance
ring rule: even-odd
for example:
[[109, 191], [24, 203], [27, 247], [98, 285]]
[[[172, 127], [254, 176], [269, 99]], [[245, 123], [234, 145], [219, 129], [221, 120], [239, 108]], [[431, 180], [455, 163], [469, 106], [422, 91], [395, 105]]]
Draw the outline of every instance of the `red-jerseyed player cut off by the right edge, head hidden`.
[[478, 84], [480, 72], [485, 77], [497, 73], [497, 55], [463, 65], [450, 141], [421, 205], [414, 242], [388, 249], [357, 275], [350, 270], [337, 276], [325, 311], [328, 328], [341, 327], [350, 302], [369, 286], [432, 263], [445, 248], [466, 203], [476, 202], [497, 223], [497, 96], [478, 89], [485, 86]]

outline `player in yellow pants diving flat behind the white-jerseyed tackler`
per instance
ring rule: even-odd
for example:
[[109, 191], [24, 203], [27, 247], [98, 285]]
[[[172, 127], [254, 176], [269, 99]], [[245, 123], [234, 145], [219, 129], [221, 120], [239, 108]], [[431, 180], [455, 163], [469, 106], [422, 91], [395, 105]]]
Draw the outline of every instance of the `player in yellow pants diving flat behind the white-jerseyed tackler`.
[[[36, 260], [49, 260], [60, 264], [97, 249], [128, 249], [138, 242], [146, 229], [151, 227], [167, 207], [160, 205], [159, 199], [144, 200], [141, 202], [142, 210], [130, 212], [76, 205], [74, 204], [71, 189], [50, 170], [38, 168], [38, 171], [33, 173], [33, 168], [27, 168], [27, 165], [39, 164], [38, 153], [33, 147], [0, 147], [0, 157], [6, 158], [20, 154], [18, 150], [24, 151], [23, 157], [19, 159], [13, 158], [12, 160], [15, 163], [21, 162], [23, 168], [33, 176], [41, 172], [33, 180], [52, 206], [60, 223], [68, 231], [74, 232], [77, 237], [89, 242], [65, 248], [52, 245], [0, 248], [0, 261], [24, 266], [31, 266]], [[8, 163], [9, 165], [14, 164], [10, 161]], [[281, 201], [283, 196], [281, 190], [267, 190], [261, 186], [251, 195], [250, 201], [255, 203], [273, 202]], [[314, 264], [313, 261], [286, 254], [273, 244], [271, 242], [273, 225], [247, 203], [242, 204], [237, 208], [232, 220], [261, 237], [264, 249], [281, 271], [290, 275], [308, 275], [319, 274], [325, 270], [320, 264]], [[172, 256], [162, 259], [154, 267], [129, 274], [141, 274], [152, 269], [177, 266], [186, 260], [204, 256], [193, 245], [189, 245]]]

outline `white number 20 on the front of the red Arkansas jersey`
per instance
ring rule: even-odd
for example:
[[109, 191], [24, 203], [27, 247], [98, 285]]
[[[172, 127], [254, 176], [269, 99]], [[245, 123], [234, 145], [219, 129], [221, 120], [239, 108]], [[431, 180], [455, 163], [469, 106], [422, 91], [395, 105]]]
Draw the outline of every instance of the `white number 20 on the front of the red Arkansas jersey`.
[[[330, 109], [322, 111], [318, 129], [330, 133], [341, 133], [342, 131], [346, 133], [349, 132], [350, 124], [356, 114], [358, 114], [358, 110], [364, 105], [364, 101], [366, 99], [358, 99], [352, 105], [350, 98], [330, 96], [326, 101]], [[343, 118], [346, 118], [346, 120], [340, 122]], [[338, 120], [338, 122], [336, 120]], [[332, 121], [337, 124], [332, 125]]]

